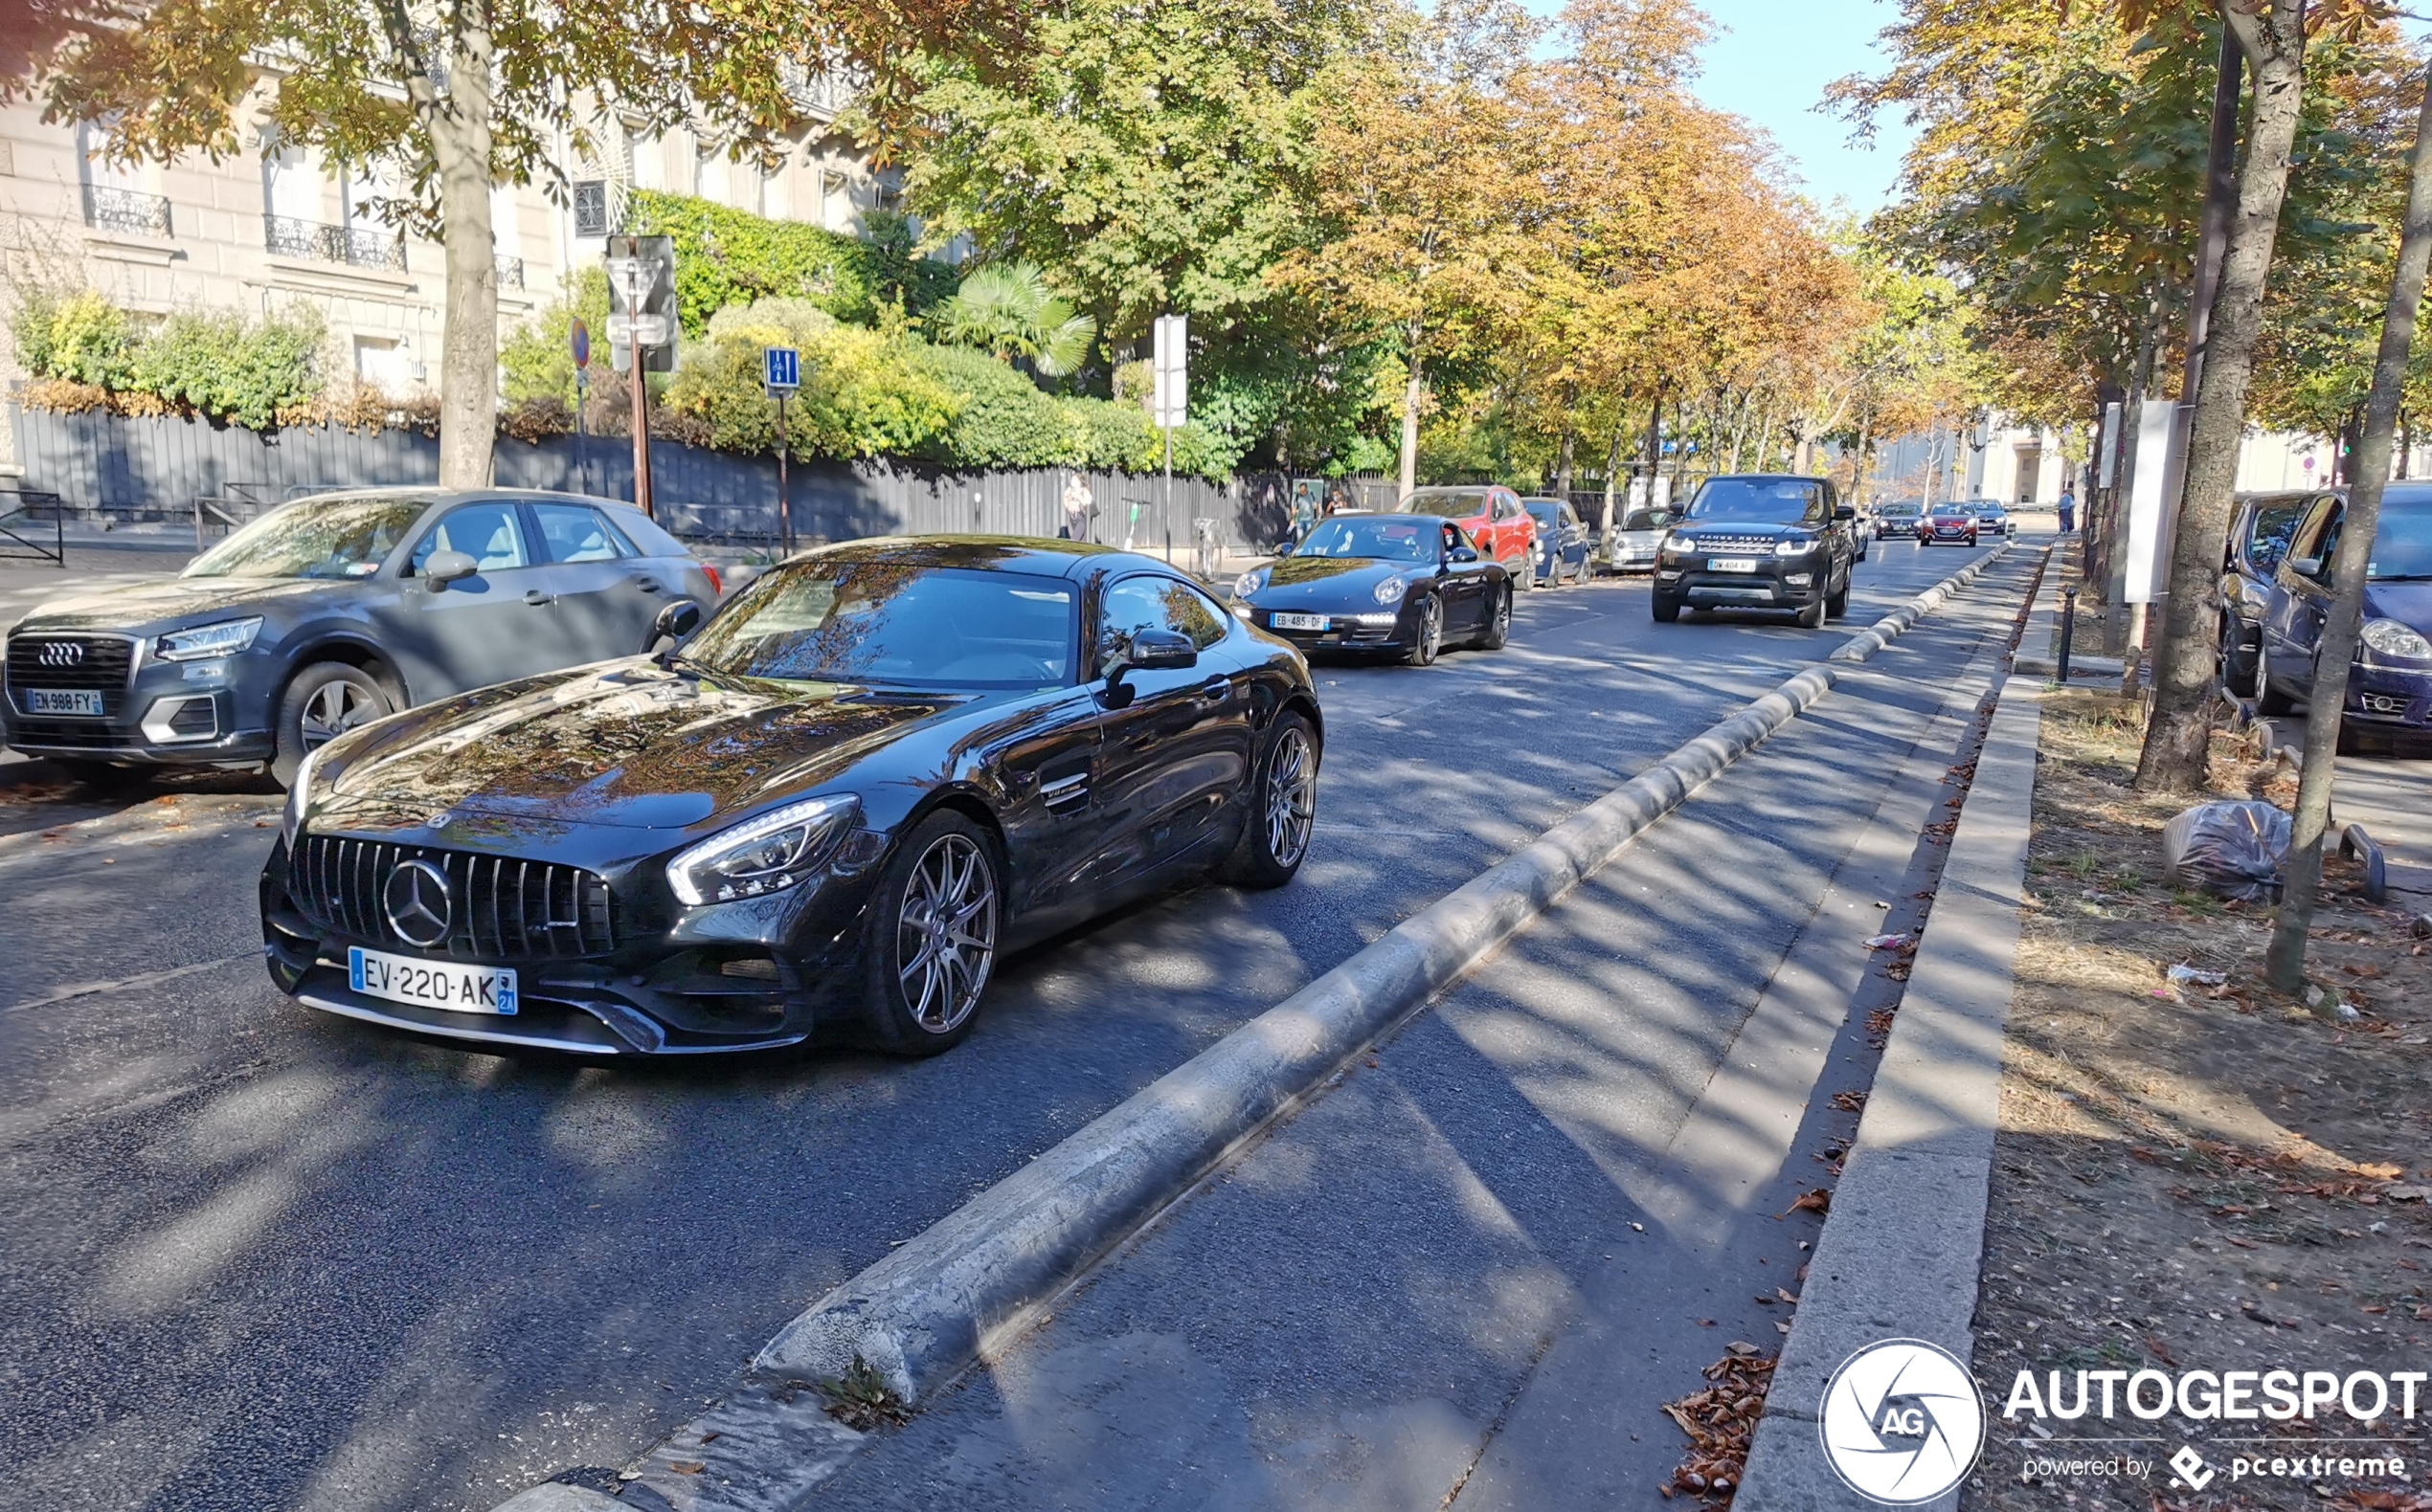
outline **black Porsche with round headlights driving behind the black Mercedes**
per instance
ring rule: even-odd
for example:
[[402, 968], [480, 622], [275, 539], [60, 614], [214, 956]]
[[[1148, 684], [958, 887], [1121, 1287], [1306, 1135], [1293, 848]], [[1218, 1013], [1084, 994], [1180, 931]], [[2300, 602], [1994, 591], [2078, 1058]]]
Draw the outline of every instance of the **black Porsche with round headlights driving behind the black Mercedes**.
[[1233, 583], [1233, 613], [1304, 651], [1386, 651], [1428, 666], [1447, 642], [1498, 649], [1513, 579], [1452, 520], [1333, 515]]

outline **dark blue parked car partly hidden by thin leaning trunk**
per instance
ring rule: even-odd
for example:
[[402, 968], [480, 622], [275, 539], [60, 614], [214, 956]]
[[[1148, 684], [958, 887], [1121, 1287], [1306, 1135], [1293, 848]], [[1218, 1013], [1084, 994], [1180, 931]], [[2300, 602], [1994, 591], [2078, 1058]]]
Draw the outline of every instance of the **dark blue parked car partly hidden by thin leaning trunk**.
[[[2344, 513], [2342, 493], [2318, 493], [2271, 574], [2254, 668], [2254, 703], [2267, 715], [2289, 712], [2313, 688]], [[2422, 737], [2432, 737], [2432, 484], [2391, 484], [2364, 571], [2364, 637], [2347, 678], [2340, 744], [2396, 746]]]

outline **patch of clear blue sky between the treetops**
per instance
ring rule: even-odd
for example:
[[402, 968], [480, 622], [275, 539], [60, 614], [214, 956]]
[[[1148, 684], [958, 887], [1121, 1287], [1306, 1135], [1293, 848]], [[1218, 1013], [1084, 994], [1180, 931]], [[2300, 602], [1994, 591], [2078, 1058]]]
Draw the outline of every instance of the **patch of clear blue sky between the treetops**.
[[1875, 34], [1897, 17], [1892, 0], [1705, 0], [1705, 10], [1717, 36], [1698, 95], [1763, 126], [1817, 204], [1848, 199], [1860, 216], [1882, 207], [1907, 126], [1880, 119], [1875, 146], [1860, 148], [1848, 122], [1814, 107], [1831, 80], [1882, 70]]

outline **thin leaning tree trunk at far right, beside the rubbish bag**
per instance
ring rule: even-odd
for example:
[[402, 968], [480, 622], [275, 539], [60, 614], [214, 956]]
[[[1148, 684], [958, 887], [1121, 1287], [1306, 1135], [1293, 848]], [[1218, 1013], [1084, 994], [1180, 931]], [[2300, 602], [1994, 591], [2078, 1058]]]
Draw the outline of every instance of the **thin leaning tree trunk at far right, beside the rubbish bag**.
[[[2340, 547], [2330, 562], [2330, 617], [2323, 622], [2323, 647], [2313, 664], [2313, 693], [2306, 700], [2306, 771], [2296, 783], [2296, 824], [2289, 836], [2289, 873], [2281, 887], [2271, 948], [2264, 950], [2264, 977], [2274, 989], [2306, 989], [2306, 933], [2313, 929], [2313, 904], [2323, 887], [2323, 831], [2330, 829], [2330, 783], [2340, 754], [2340, 715], [2347, 710], [2347, 664], [2357, 654], [2357, 622], [2364, 617], [2364, 571], [2374, 557], [2374, 530], [2381, 523], [2381, 486], [2391, 476], [2391, 430], [2398, 428], [2398, 399], [2408, 382], [2408, 352], [2415, 345], [2415, 306], [2425, 292], [2425, 265], [2432, 263], [2432, 88], [2415, 117], [2415, 153], [2408, 163], [2408, 219], [2398, 236], [2398, 270], [2391, 275], [2391, 306], [2381, 321], [2381, 350], [2374, 355], [2374, 391], [2364, 401], [2364, 430], [2357, 438], [2354, 481], [2347, 491], [2347, 518]], [[2323, 1016], [2335, 1016], [2332, 997], [2323, 994]]]

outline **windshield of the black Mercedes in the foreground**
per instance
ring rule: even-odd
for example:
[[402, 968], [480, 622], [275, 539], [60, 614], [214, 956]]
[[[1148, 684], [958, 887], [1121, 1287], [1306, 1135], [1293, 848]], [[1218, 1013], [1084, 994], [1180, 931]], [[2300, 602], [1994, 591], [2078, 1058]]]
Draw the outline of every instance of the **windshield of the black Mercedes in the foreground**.
[[683, 659], [747, 678], [900, 688], [1055, 688], [1073, 673], [1073, 583], [902, 562], [771, 571]]

